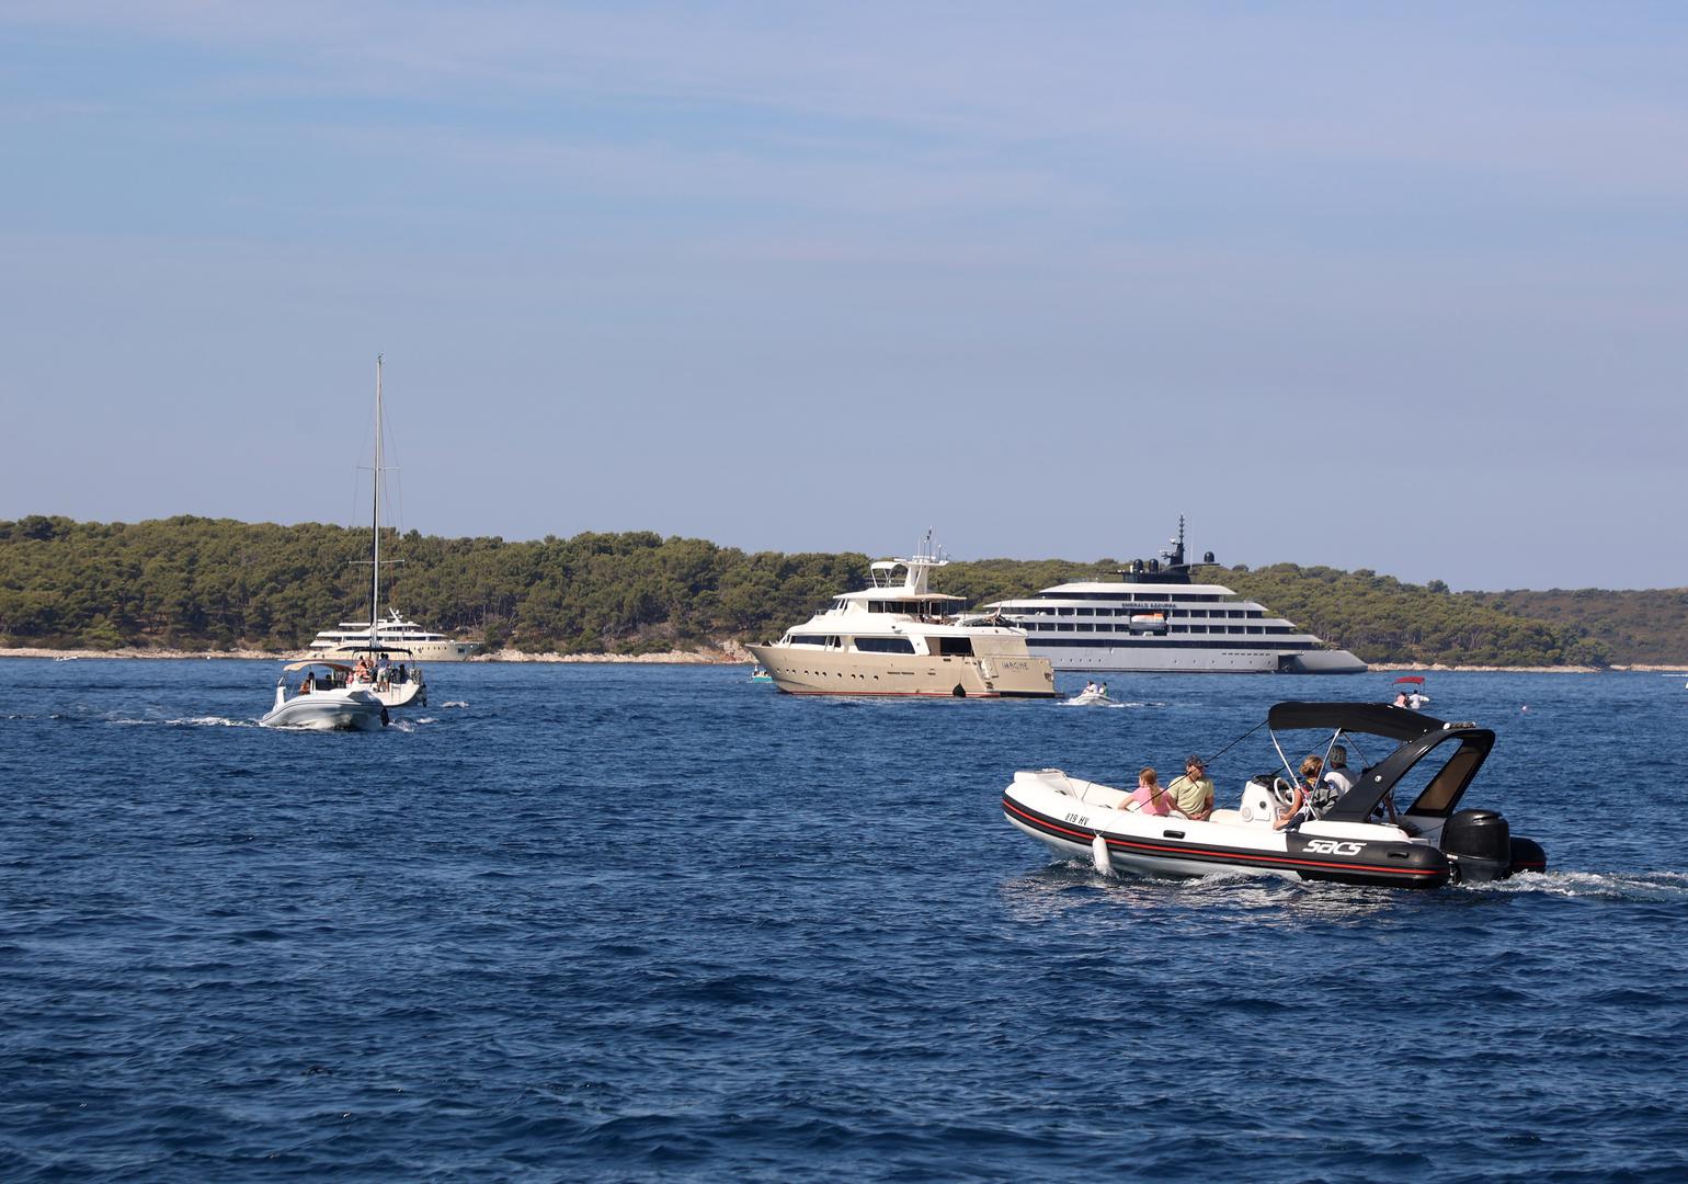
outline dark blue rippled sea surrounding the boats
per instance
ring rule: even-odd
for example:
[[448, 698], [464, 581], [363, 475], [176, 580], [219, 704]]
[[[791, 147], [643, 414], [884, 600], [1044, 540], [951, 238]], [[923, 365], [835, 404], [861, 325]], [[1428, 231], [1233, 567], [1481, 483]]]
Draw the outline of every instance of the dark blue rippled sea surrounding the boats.
[[0, 660], [0, 1179], [1688, 1177], [1685, 677], [1430, 674], [1550, 872], [1406, 893], [1104, 878], [999, 807], [1386, 674], [434, 665], [339, 735], [255, 726], [277, 669]]

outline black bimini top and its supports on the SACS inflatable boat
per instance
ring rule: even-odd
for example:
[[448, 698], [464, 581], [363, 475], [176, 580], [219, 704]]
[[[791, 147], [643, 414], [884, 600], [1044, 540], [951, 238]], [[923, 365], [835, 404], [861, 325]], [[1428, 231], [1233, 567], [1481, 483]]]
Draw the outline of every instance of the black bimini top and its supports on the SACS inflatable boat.
[[[1482, 762], [1494, 748], [1494, 731], [1472, 723], [1445, 723], [1420, 711], [1386, 703], [1278, 703], [1266, 713], [1266, 726], [1357, 731], [1398, 740], [1399, 747], [1361, 774], [1322, 817], [1335, 823], [1364, 823], [1389, 790], [1433, 748], [1448, 741], [1458, 747], [1447, 757], [1430, 784], [1411, 802], [1396, 802], [1403, 814], [1447, 817], [1458, 806]], [[1404, 809], [1403, 809], [1404, 806]]]

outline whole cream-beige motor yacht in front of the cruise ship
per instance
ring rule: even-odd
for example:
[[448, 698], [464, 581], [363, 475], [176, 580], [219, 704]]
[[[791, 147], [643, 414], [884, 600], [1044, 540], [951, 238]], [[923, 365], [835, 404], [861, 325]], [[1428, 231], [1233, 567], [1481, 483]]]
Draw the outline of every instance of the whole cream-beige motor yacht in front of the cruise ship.
[[1025, 630], [950, 620], [962, 598], [928, 589], [932, 569], [949, 564], [930, 544], [928, 534], [912, 559], [874, 562], [869, 588], [749, 652], [790, 694], [1057, 696], [1055, 671], [1026, 652]]

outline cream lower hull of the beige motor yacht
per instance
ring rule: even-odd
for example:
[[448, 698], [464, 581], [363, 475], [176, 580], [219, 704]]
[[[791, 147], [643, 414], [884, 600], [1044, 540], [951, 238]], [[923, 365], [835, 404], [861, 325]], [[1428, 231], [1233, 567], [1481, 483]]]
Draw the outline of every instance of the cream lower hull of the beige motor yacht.
[[749, 645], [773, 682], [790, 694], [922, 694], [940, 698], [1058, 698], [1041, 657], [856, 654], [805, 645]]

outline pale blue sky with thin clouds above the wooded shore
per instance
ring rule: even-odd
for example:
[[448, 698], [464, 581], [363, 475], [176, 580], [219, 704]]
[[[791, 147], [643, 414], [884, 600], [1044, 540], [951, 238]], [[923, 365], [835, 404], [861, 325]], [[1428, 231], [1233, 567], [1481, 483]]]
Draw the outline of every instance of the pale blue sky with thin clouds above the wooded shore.
[[0, 519], [1688, 584], [1688, 7], [0, 8]]

